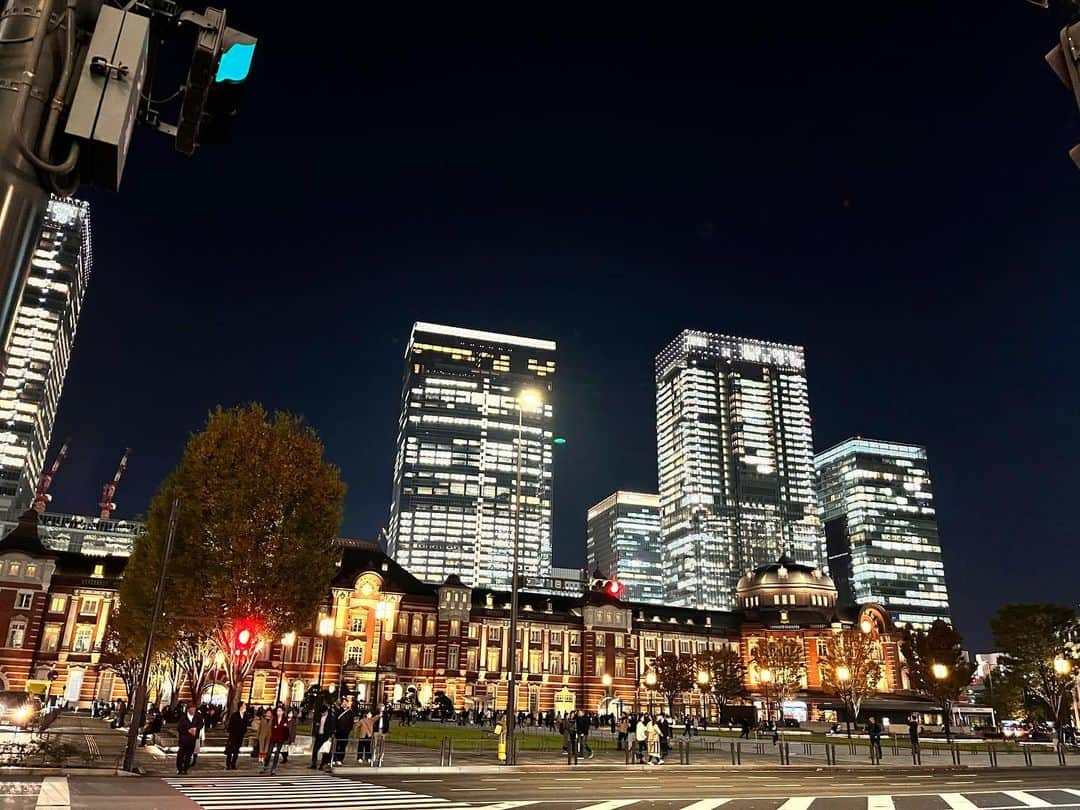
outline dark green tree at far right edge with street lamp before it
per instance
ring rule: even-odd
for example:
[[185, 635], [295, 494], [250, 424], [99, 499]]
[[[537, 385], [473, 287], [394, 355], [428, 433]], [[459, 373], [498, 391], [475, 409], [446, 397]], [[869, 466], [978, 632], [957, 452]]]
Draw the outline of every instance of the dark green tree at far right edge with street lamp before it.
[[[1005, 605], [990, 620], [1000, 666], [1061, 725], [1077, 676], [1076, 611], [1064, 605]], [[1064, 671], [1055, 666], [1065, 663]]]

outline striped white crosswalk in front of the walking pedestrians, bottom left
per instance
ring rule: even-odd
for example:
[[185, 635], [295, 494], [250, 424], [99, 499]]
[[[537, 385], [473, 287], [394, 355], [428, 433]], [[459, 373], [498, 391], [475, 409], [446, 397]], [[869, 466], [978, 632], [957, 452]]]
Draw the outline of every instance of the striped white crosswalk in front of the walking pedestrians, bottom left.
[[474, 805], [336, 777], [176, 777], [164, 782], [205, 810], [464, 810]]

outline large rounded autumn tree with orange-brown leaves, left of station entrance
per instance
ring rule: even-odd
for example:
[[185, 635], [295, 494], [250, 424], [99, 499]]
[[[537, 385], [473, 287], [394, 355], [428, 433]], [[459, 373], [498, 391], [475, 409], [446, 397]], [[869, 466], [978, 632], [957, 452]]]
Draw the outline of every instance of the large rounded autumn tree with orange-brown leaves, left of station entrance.
[[[256, 657], [230, 654], [231, 627], [256, 621], [266, 649], [269, 639], [314, 618], [336, 570], [343, 498], [338, 469], [299, 417], [268, 415], [259, 405], [218, 407], [150, 503], [147, 532], [121, 585], [121, 632], [146, 637], [178, 499], [165, 589], [170, 619], [159, 624], [165, 626], [156, 647], [212, 638], [226, 654], [230, 684], [243, 683]], [[202, 673], [205, 683], [206, 666], [186, 669], [189, 680]]]

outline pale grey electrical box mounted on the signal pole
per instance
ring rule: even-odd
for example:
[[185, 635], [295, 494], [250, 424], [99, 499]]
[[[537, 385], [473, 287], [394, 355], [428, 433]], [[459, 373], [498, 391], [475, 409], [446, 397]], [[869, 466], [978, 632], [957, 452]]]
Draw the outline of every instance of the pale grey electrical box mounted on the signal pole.
[[146, 80], [150, 19], [102, 6], [65, 132], [85, 141], [81, 178], [116, 191], [124, 172]]

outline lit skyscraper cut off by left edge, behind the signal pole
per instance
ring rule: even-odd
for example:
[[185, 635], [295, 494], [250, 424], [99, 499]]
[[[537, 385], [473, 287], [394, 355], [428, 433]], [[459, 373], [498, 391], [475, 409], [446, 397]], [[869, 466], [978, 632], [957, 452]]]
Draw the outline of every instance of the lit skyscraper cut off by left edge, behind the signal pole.
[[49, 202], [0, 379], [0, 512], [29, 509], [90, 279], [90, 207]]

